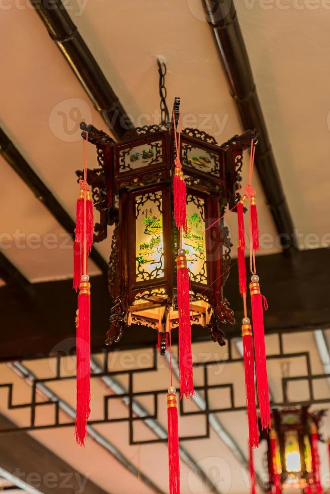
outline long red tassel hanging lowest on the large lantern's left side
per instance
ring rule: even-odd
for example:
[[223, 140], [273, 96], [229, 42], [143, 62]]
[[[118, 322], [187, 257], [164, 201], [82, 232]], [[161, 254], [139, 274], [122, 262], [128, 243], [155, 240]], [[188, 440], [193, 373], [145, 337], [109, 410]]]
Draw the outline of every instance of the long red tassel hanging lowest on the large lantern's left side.
[[[83, 280], [84, 278], [84, 280]], [[86, 278], [86, 279], [85, 279]], [[78, 295], [77, 317], [77, 411], [76, 441], [85, 445], [87, 420], [90, 413], [90, 283], [82, 276]]]

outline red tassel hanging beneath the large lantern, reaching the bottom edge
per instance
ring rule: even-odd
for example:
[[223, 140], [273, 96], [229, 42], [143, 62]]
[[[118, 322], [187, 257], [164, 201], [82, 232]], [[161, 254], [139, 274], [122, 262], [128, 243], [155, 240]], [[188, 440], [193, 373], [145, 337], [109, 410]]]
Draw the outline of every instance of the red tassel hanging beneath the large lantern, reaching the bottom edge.
[[179, 428], [175, 388], [169, 388], [168, 402], [168, 446], [169, 446], [169, 492], [180, 494]]

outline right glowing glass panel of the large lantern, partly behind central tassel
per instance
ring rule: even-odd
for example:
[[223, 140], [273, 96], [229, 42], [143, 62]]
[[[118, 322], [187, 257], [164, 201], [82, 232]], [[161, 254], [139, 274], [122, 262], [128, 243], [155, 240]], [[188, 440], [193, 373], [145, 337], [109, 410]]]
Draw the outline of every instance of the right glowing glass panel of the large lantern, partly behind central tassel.
[[187, 225], [182, 248], [187, 252], [190, 276], [192, 281], [206, 284], [205, 204], [204, 199], [191, 194], [187, 196]]

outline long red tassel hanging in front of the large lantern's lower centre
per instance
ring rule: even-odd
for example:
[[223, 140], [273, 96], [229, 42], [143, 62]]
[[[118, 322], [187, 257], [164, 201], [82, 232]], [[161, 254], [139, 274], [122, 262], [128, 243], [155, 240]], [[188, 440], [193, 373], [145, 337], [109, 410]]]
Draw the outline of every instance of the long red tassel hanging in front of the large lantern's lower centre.
[[[182, 252], [181, 252], [182, 251]], [[180, 399], [191, 398], [194, 392], [193, 363], [191, 354], [190, 290], [187, 258], [179, 249], [177, 256], [177, 288], [179, 311], [179, 378]]]

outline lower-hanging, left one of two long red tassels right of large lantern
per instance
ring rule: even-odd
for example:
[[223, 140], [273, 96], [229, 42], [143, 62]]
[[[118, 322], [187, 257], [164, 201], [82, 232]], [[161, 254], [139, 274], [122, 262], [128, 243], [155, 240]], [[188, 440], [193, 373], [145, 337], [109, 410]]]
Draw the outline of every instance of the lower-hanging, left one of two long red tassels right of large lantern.
[[253, 342], [252, 328], [248, 318], [243, 319], [242, 337], [245, 371], [246, 409], [249, 424], [249, 445], [250, 448], [257, 448], [259, 446], [259, 431], [257, 409], [255, 405]]

